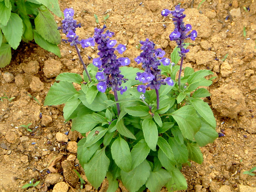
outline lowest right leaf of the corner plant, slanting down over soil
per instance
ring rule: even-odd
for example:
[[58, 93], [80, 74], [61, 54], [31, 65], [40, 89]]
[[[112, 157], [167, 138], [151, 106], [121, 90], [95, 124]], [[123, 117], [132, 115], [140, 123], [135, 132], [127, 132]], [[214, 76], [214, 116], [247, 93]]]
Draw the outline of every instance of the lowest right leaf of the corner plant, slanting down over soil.
[[33, 30], [33, 33], [34, 33], [34, 39], [36, 44], [38, 44], [40, 47], [42, 47], [46, 51], [52, 52], [58, 57], [60, 57], [60, 48], [58, 47], [58, 45], [55, 45], [46, 41], [41, 35], [39, 35], [36, 32], [36, 30]]

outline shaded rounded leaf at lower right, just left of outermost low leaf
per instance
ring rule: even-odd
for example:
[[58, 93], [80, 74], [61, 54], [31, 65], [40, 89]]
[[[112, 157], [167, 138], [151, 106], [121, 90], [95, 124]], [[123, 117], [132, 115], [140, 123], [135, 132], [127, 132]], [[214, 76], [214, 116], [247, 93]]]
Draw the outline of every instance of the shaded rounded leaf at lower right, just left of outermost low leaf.
[[181, 164], [186, 163], [188, 161], [188, 149], [186, 145], [184, 143], [179, 145], [173, 137], [170, 137], [168, 141], [172, 148], [175, 161]]

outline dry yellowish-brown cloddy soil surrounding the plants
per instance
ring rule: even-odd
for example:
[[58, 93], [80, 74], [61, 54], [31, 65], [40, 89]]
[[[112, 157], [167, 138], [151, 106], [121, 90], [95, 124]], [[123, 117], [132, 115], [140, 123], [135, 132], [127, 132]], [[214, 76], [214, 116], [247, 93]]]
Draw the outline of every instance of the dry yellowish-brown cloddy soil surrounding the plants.
[[[191, 167], [183, 167], [188, 182], [186, 191], [255, 192], [256, 176], [243, 172], [256, 166], [256, 1], [206, 0], [197, 9], [200, 2], [181, 2], [186, 9], [185, 24], [190, 23], [198, 34], [196, 41], [190, 42], [193, 44], [184, 67], [210, 69], [217, 76], [209, 88], [212, 95], [204, 99], [212, 107], [217, 132], [225, 136], [201, 148], [203, 164], [192, 162]], [[127, 45], [124, 57], [131, 59], [133, 67], [136, 67], [133, 58], [140, 54], [136, 48], [140, 40], [153, 40], [167, 55], [175, 47], [169, 40], [174, 25], [171, 18], [161, 16], [161, 11], [174, 9], [180, 3], [177, 0], [59, 0], [59, 3], [61, 10], [74, 8], [74, 18], [83, 25], [77, 29], [80, 38], [91, 37], [93, 29], [103, 24], [115, 32], [118, 43]], [[250, 11], [246, 12], [244, 8], [248, 7]], [[99, 23], [93, 14], [98, 16]], [[56, 17], [56, 21], [61, 25], [60, 18]], [[92, 48], [80, 49], [85, 63], [97, 57]], [[11, 64], [0, 69], [0, 97], [4, 94], [15, 97], [0, 101], [1, 192], [105, 192], [107, 189], [106, 180], [99, 189], [88, 182], [80, 189], [73, 169], [86, 179], [76, 159], [76, 142], [81, 135], [70, 131], [70, 121], [64, 123], [63, 105], [43, 106], [58, 74], [83, 72], [74, 47], [61, 43], [60, 51], [58, 58], [34, 42], [21, 43], [12, 52]], [[32, 132], [20, 127], [29, 123]], [[51, 173], [44, 169], [50, 161]], [[35, 188], [21, 189], [33, 178], [40, 181]], [[119, 186], [119, 192], [127, 191], [122, 183]]]

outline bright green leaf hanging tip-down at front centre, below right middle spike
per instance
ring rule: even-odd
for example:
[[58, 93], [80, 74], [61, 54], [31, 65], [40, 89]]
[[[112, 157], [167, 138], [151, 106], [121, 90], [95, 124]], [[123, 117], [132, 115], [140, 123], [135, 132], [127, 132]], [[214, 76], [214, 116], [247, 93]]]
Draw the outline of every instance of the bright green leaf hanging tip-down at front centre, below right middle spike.
[[158, 130], [153, 119], [144, 119], [142, 122], [142, 130], [148, 147], [153, 151], [156, 151]]

